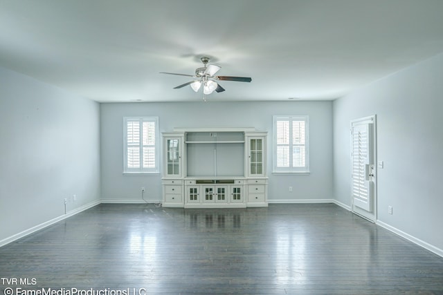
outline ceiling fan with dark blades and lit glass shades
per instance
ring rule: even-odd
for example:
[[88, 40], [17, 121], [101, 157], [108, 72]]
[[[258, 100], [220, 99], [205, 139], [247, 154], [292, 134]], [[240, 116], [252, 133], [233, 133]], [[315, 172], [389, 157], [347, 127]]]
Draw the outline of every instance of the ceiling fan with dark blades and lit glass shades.
[[186, 82], [185, 84], [181, 84], [174, 89], [182, 88], [184, 86], [190, 85], [193, 91], [199, 91], [200, 87], [203, 85], [203, 99], [206, 101], [206, 95], [215, 92], [223, 92], [225, 89], [221, 87], [216, 81], [236, 81], [236, 82], [251, 82], [251, 77], [233, 77], [233, 76], [216, 76], [215, 74], [220, 70], [220, 66], [216, 66], [215, 64], [208, 64], [209, 57], [201, 57], [201, 62], [203, 63], [202, 68], [195, 69], [195, 75], [186, 75], [186, 74], [177, 74], [177, 73], [165, 73], [160, 72], [161, 74], [168, 75], [179, 75], [186, 77], [193, 77], [194, 80], [190, 82]]

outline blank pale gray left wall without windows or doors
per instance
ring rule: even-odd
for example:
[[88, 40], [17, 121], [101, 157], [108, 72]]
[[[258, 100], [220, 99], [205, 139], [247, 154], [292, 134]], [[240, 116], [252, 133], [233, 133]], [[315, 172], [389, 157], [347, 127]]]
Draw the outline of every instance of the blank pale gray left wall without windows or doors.
[[64, 198], [100, 200], [99, 118], [98, 103], [0, 68], [0, 242], [63, 216]]

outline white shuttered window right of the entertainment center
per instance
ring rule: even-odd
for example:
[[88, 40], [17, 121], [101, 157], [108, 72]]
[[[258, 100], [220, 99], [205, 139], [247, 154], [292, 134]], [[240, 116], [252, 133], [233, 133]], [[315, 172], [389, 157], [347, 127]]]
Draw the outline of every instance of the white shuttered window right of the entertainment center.
[[309, 173], [308, 116], [273, 116], [273, 172]]

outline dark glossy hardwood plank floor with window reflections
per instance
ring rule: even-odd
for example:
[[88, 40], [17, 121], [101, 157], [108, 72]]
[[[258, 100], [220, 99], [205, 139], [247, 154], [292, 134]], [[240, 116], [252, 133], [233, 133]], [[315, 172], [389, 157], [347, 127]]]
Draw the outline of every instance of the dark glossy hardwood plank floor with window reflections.
[[443, 258], [335, 204], [100, 204], [1, 247], [0, 278], [6, 295], [443, 294]]

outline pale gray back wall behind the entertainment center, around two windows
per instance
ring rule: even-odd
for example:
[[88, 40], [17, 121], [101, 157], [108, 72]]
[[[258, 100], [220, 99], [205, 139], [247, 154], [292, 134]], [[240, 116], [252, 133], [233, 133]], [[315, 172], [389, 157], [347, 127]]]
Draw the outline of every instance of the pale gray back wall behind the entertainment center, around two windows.
[[[210, 99], [210, 97], [209, 97]], [[123, 117], [158, 116], [161, 132], [179, 128], [255, 127], [269, 133], [269, 200], [332, 199], [332, 102], [185, 102], [101, 104], [102, 198], [161, 200], [161, 175], [123, 175]], [[273, 175], [272, 116], [309, 115], [310, 175]], [[289, 192], [289, 186], [293, 192]]]

